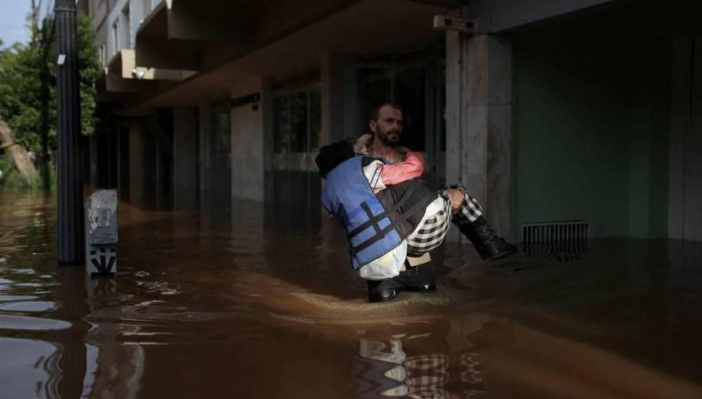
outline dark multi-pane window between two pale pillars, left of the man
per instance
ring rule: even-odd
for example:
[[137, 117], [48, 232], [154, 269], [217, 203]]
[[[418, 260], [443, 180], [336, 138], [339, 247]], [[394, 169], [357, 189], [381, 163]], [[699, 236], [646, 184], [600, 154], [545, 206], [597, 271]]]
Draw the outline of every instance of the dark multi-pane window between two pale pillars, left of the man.
[[319, 149], [322, 93], [312, 85], [274, 95], [274, 149], [276, 154]]

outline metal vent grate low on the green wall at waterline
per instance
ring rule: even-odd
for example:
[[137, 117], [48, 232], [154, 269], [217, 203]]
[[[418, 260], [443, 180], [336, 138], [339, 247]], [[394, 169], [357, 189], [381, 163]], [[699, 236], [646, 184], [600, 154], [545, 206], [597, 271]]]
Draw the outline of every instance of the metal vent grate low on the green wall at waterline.
[[524, 255], [555, 258], [559, 262], [583, 259], [590, 246], [590, 223], [545, 222], [522, 225]]

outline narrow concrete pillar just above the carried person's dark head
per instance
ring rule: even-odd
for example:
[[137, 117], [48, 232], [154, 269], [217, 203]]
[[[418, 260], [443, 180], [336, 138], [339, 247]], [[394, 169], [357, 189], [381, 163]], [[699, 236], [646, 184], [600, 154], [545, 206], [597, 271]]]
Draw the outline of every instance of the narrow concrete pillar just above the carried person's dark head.
[[345, 58], [322, 53], [322, 133], [320, 145], [343, 139]]

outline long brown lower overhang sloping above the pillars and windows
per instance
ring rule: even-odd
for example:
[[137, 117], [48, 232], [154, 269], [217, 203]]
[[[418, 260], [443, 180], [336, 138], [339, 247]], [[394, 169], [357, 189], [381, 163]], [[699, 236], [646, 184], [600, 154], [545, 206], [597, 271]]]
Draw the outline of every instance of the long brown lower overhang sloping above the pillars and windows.
[[[177, 1], [177, 0], [174, 0]], [[447, 6], [448, 4], [448, 6]], [[416, 0], [363, 0], [339, 2], [317, 20], [298, 26], [293, 32], [272, 36], [259, 23], [259, 37], [270, 36], [255, 48], [200, 72], [182, 84], [155, 97], [140, 96], [133, 111], [154, 107], [194, 105], [202, 98], [228, 93], [246, 76], [272, 78], [289, 76], [319, 67], [322, 53], [341, 53], [361, 58], [402, 53], [442, 42], [445, 32], [434, 29], [434, 15], [454, 11], [455, 2]], [[398, 22], [388, 22], [388, 15]], [[137, 53], [137, 60], [140, 54]]]

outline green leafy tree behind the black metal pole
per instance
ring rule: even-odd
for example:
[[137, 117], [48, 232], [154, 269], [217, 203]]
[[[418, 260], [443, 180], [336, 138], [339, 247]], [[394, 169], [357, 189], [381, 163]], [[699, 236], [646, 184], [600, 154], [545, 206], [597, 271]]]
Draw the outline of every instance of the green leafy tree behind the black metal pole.
[[[32, 1], [31, 39], [8, 48], [0, 41], [0, 119], [13, 141], [38, 155], [44, 187], [50, 175], [48, 160], [56, 149], [56, 43], [53, 15], [39, 22], [41, 1]], [[100, 73], [91, 19], [77, 17], [81, 97], [81, 133], [95, 130], [95, 79]]]

